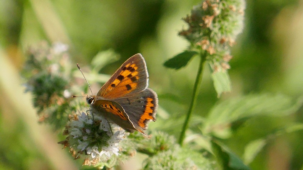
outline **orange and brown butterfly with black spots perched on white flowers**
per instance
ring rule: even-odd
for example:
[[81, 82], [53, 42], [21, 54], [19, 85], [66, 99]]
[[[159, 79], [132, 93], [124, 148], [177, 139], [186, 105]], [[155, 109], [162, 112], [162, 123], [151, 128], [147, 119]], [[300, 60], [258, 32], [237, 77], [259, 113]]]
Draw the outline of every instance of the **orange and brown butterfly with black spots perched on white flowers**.
[[[79, 67], [78, 67], [79, 68]], [[96, 95], [87, 96], [92, 113], [128, 132], [143, 134], [156, 120], [157, 94], [148, 88], [148, 72], [141, 54], [126, 60]]]

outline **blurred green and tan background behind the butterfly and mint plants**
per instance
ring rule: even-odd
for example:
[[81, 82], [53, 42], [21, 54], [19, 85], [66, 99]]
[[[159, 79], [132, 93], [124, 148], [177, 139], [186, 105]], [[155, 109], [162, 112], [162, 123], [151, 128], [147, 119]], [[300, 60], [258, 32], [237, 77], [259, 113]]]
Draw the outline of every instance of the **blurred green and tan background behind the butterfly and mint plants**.
[[[159, 118], [150, 129], [178, 138], [191, 100], [198, 58], [178, 71], [163, 67], [165, 60], [185, 50], [178, 31], [181, 20], [200, 0], [189, 1], [68, 1], [0, 0], [0, 169], [77, 169], [58, 145], [57, 134], [38, 124], [31, 96], [24, 92], [19, 71], [25, 51], [42, 40], [69, 44], [74, 63], [89, 64], [108, 49], [121, 59], [102, 73], [112, 74], [128, 57], [141, 53], [149, 72], [149, 87], [159, 96]], [[232, 48], [232, 91], [219, 99], [205, 67], [195, 116], [206, 117], [215, 103], [258, 93], [303, 94], [303, 1], [247, 1], [245, 28]], [[75, 65], [76, 66], [76, 65]], [[257, 116], [225, 140], [233, 152], [243, 154], [248, 141], [266, 136], [276, 127], [303, 121], [303, 109], [290, 116]], [[177, 117], [180, 117], [177, 119]], [[167, 119], [167, 120], [166, 120]], [[168, 122], [165, 125], [163, 122]], [[193, 131], [198, 130], [191, 124]], [[301, 169], [303, 132], [271, 141], [249, 165], [252, 169]], [[126, 163], [125, 169], [132, 169]], [[138, 169], [139, 165], [135, 166]], [[303, 168], [302, 168], [303, 169]]]

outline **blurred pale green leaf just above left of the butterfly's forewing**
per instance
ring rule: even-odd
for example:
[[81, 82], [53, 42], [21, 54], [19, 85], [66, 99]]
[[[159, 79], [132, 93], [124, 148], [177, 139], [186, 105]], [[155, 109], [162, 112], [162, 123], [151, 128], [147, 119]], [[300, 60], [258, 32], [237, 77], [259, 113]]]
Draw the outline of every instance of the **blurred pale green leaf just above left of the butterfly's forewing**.
[[92, 59], [92, 72], [98, 73], [104, 66], [119, 60], [120, 55], [112, 49], [100, 51]]

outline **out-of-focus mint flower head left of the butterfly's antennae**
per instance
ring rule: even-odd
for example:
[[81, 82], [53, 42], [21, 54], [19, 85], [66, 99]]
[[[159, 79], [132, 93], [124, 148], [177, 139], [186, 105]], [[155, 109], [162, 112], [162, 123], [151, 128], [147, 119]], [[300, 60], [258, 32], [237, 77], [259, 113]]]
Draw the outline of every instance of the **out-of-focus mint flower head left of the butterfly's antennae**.
[[29, 47], [27, 57], [22, 76], [26, 91], [33, 95], [39, 121], [60, 129], [75, 109], [70, 106], [73, 79], [68, 45], [43, 41]]

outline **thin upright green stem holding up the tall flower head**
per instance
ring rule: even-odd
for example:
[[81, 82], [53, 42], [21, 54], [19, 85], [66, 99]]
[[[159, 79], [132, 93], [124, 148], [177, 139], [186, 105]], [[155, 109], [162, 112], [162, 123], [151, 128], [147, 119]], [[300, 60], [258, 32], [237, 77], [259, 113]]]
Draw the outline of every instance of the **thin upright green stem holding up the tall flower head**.
[[199, 70], [198, 70], [198, 74], [197, 74], [195, 85], [194, 85], [194, 92], [193, 92], [193, 95], [192, 95], [191, 104], [189, 106], [188, 113], [187, 113], [185, 122], [183, 124], [182, 132], [181, 132], [180, 137], [179, 137], [179, 144], [181, 146], [182, 146], [184, 138], [185, 138], [185, 132], [188, 128], [188, 123], [189, 123], [189, 120], [190, 120], [190, 117], [191, 117], [191, 113], [192, 113], [192, 111], [193, 111], [193, 109], [195, 108], [195, 105], [196, 105], [198, 91], [199, 91], [199, 87], [201, 85], [203, 63], [205, 61], [205, 56], [204, 56], [203, 53], [201, 53], [200, 57], [201, 57], [200, 65], [199, 65]]

